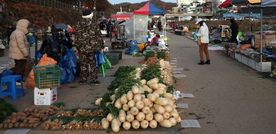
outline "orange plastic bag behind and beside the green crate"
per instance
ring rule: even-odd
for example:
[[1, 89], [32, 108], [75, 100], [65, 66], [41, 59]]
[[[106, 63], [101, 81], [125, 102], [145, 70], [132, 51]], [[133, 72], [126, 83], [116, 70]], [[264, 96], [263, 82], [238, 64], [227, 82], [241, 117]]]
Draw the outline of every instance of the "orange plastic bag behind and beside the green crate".
[[[47, 57], [47, 54], [44, 54], [36, 66], [56, 65], [57, 63], [58, 62], [56, 62], [54, 59]], [[32, 69], [28, 75], [27, 80], [23, 84], [23, 87], [24, 89], [31, 89], [31, 88], [34, 88], [35, 86], [36, 85], [35, 85], [34, 70]]]

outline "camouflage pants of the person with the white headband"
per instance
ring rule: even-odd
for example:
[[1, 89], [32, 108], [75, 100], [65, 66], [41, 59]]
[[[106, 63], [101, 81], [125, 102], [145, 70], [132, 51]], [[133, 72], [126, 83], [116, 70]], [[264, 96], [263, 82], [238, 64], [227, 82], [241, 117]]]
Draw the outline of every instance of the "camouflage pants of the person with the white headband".
[[96, 67], [96, 59], [95, 54], [80, 54], [80, 82], [86, 82], [87, 75], [89, 72], [89, 65], [90, 65], [90, 80], [91, 82], [97, 81], [98, 79], [98, 69]]

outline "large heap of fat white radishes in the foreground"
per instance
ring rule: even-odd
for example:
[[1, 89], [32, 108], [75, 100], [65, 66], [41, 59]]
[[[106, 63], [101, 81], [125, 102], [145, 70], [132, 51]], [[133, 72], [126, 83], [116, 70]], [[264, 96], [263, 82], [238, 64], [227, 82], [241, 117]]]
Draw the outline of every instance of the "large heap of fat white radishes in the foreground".
[[[143, 84], [142, 86], [134, 85], [131, 91], [115, 101], [114, 106], [119, 109], [119, 115], [113, 118], [109, 113], [102, 120], [104, 129], [108, 129], [110, 123], [112, 131], [117, 133], [121, 126], [125, 130], [129, 130], [131, 127], [133, 129], [148, 127], [155, 129], [158, 124], [165, 128], [171, 128], [181, 122], [175, 109], [173, 95], [166, 93], [167, 87], [158, 83], [159, 79], [154, 78], [147, 82], [140, 80], [140, 82]], [[144, 91], [148, 91], [149, 94], [143, 95]], [[111, 99], [114, 100], [114, 97], [111, 96]]]

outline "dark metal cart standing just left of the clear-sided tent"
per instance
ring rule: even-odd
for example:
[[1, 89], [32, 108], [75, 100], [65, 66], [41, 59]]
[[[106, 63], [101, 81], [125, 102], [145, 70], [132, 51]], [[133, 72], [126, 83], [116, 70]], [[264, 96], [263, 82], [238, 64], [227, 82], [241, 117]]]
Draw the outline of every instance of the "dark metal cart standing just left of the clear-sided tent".
[[111, 49], [122, 48], [126, 46], [125, 25], [111, 25], [110, 26], [110, 42]]

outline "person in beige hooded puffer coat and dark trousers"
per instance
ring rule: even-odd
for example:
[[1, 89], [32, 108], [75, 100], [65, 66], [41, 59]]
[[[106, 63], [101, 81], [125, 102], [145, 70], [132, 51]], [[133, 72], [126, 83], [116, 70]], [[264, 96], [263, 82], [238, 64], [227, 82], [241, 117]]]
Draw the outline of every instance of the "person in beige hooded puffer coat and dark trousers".
[[27, 41], [26, 34], [30, 22], [22, 19], [17, 22], [16, 30], [10, 35], [9, 42], [9, 58], [14, 59], [15, 70], [14, 75], [24, 75], [27, 58], [29, 57], [28, 47], [30, 44]]

